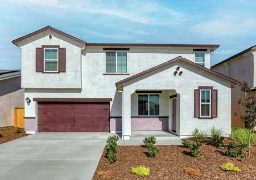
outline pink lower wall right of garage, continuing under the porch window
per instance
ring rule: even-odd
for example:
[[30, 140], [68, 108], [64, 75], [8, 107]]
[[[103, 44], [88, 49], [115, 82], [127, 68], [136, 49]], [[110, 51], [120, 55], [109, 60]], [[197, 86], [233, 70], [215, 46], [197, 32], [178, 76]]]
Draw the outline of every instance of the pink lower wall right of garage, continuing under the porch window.
[[[110, 118], [110, 131], [122, 130], [122, 118]], [[168, 131], [168, 117], [131, 117], [131, 131]]]

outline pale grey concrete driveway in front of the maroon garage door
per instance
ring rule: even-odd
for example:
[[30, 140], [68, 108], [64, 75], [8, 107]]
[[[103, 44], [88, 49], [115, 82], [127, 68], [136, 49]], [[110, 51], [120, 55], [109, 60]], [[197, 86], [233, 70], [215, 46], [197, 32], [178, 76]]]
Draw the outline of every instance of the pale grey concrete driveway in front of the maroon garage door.
[[0, 179], [92, 179], [109, 133], [33, 134], [0, 145]]

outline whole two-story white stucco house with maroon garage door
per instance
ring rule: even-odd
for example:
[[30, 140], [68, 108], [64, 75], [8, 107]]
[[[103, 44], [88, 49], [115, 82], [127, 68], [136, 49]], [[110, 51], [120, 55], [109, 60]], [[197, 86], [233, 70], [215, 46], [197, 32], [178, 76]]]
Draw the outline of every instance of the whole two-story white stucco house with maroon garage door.
[[88, 43], [52, 27], [13, 40], [22, 54], [26, 131], [231, 132], [237, 80], [210, 70], [219, 45]]

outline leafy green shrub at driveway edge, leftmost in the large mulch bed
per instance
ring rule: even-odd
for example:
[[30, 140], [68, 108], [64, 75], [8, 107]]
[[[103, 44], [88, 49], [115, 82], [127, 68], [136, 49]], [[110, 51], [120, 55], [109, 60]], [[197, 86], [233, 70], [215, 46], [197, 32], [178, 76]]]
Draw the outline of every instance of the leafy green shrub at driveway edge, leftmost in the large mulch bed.
[[118, 151], [118, 136], [109, 136], [106, 144], [106, 156], [109, 160], [110, 164], [113, 164], [115, 161], [117, 161], [117, 151]]

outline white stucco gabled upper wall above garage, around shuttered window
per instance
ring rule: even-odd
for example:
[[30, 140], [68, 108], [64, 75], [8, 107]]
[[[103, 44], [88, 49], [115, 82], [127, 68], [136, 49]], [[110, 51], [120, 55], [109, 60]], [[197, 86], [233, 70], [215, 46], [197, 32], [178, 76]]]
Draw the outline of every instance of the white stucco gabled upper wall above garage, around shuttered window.
[[[49, 39], [49, 35], [52, 38]], [[42, 45], [66, 48], [66, 72], [36, 72], [35, 52]], [[52, 31], [19, 42], [21, 49], [22, 88], [81, 88], [81, 44]]]

